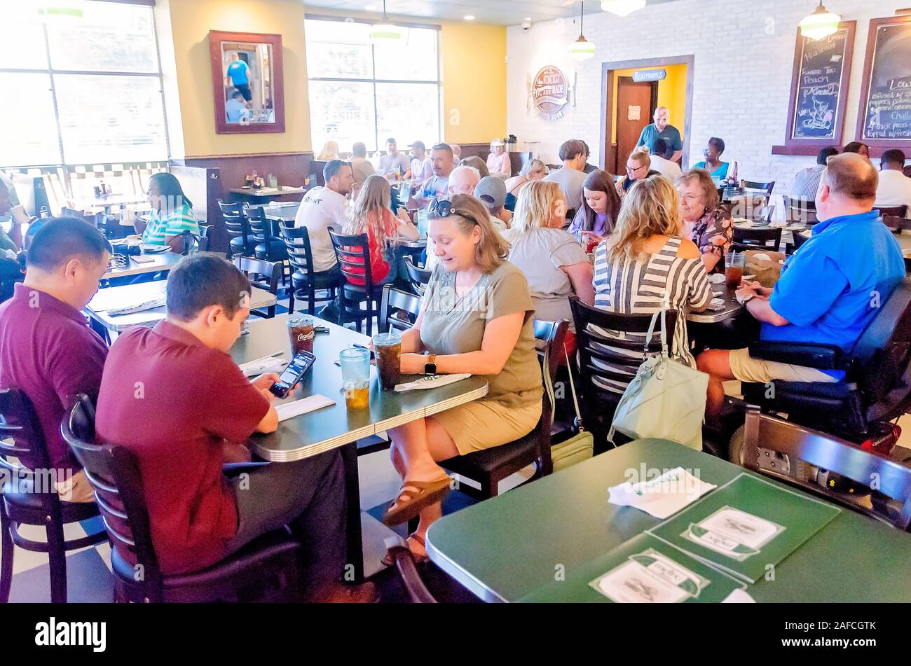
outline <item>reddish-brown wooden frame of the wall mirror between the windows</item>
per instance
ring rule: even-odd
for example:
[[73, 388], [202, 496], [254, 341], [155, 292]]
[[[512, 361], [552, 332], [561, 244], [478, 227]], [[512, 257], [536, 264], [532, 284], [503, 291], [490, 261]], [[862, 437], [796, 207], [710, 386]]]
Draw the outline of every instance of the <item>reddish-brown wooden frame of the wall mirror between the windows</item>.
[[[272, 108], [275, 111], [274, 123], [251, 123], [241, 125], [229, 123], [225, 118], [224, 76], [221, 72], [221, 43], [247, 42], [250, 44], [271, 45], [272, 65]], [[215, 102], [216, 134], [263, 134], [283, 133], [284, 127], [284, 70], [281, 64], [281, 35], [263, 35], [261, 33], [227, 33], [220, 30], [209, 31], [209, 55], [212, 66], [212, 98]]]

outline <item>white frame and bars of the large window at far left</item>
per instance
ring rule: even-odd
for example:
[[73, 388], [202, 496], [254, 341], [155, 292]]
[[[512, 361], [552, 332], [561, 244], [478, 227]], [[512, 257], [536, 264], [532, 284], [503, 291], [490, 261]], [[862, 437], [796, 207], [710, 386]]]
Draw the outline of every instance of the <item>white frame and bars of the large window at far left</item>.
[[[155, 43], [155, 63], [157, 66], [157, 71], [155, 72], [111, 72], [104, 70], [79, 70], [79, 69], [55, 69], [51, 61], [51, 45], [50, 38], [47, 33], [47, 24], [46, 22], [41, 22], [41, 33], [44, 36], [45, 41], [45, 54], [47, 59], [47, 67], [45, 69], [27, 69], [22, 67], [2, 67], [0, 66], [0, 74], [40, 74], [46, 75], [50, 83], [50, 92], [51, 92], [51, 101], [54, 105], [54, 118], [56, 121], [56, 137], [57, 137], [57, 154], [60, 158], [59, 162], [55, 164], [0, 164], [0, 167], [5, 169], [25, 169], [25, 168], [40, 168], [46, 166], [90, 166], [98, 164], [98, 162], [67, 162], [66, 149], [63, 142], [63, 129], [60, 122], [60, 109], [57, 102], [56, 94], [56, 81], [55, 75], [60, 76], [69, 76], [69, 75], [82, 75], [82, 76], [129, 76], [129, 77], [148, 77], [148, 78], [157, 78], [159, 82], [159, 96], [161, 97], [161, 117], [163, 119], [163, 127], [165, 133], [165, 155], [156, 156], [154, 159], [149, 159], [147, 156], [145, 159], [136, 159], [136, 160], [117, 160], [118, 164], [133, 164], [133, 163], [146, 163], [146, 162], [162, 162], [168, 161], [170, 159], [170, 133], [168, 127], [168, 109], [165, 104], [165, 86], [164, 86], [164, 74], [161, 69], [161, 48], [159, 45], [159, 33], [158, 33], [158, 22], [155, 16], [155, 4], [154, 1], [149, 0], [91, 0], [91, 2], [102, 2], [109, 5], [134, 5], [138, 7], [145, 7], [149, 15], [151, 16], [152, 24], [152, 39]], [[105, 162], [104, 164], [109, 164]]]

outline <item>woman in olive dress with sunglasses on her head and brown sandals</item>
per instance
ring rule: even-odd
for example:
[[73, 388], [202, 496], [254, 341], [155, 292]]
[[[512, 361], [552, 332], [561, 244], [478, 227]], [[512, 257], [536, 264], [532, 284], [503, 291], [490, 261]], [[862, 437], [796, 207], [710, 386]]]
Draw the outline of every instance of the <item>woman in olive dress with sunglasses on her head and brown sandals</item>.
[[456, 195], [430, 217], [439, 263], [415, 326], [402, 339], [404, 374], [486, 377], [483, 399], [389, 430], [402, 489], [386, 511], [389, 525], [420, 515], [408, 539], [426, 558], [427, 527], [440, 517], [450, 479], [437, 462], [524, 437], [541, 416], [541, 368], [535, 352], [528, 283], [507, 262], [507, 243], [484, 205]]

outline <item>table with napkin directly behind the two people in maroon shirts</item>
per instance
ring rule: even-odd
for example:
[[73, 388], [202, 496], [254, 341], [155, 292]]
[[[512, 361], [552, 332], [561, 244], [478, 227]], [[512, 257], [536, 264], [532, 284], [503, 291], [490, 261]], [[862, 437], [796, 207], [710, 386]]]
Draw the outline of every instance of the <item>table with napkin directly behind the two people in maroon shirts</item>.
[[[120, 333], [134, 326], [151, 328], [167, 315], [167, 308], [151, 308], [125, 315], [111, 315], [107, 310], [137, 305], [154, 298], [163, 297], [168, 288], [168, 280], [140, 282], [134, 285], [108, 287], [97, 292], [86, 306], [87, 315], [107, 332], [110, 342], [117, 339]], [[253, 287], [250, 295], [250, 307], [253, 309], [270, 308], [278, 302], [274, 294], [265, 289]]]

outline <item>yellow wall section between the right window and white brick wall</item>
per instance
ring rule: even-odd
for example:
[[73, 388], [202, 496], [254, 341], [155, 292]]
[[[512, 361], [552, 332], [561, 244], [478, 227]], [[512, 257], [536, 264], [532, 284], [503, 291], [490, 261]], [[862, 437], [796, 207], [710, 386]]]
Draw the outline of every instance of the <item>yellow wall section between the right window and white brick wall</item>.
[[506, 27], [453, 22], [441, 29], [445, 140], [481, 143], [506, 136]]

